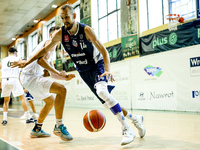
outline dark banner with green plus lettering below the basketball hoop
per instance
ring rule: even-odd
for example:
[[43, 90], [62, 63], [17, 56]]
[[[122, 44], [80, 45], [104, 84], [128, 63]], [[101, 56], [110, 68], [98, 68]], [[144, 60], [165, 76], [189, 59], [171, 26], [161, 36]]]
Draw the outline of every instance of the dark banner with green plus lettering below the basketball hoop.
[[140, 38], [140, 54], [147, 55], [200, 44], [200, 20], [178, 26], [178, 30], [168, 29]]

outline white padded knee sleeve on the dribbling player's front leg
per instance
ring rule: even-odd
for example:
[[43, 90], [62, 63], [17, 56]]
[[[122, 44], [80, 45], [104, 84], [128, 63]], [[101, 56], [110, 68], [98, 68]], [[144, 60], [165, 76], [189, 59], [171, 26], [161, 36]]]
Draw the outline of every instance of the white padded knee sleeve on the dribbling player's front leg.
[[105, 101], [109, 108], [115, 106], [117, 100], [108, 92], [107, 83], [101, 82], [96, 85], [97, 95]]

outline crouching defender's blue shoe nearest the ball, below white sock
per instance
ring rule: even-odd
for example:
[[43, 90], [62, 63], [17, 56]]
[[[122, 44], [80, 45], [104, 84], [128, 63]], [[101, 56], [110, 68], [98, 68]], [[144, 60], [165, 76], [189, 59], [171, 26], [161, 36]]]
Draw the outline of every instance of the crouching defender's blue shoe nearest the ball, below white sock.
[[67, 131], [67, 128], [64, 126], [64, 124], [60, 125], [58, 128], [57, 125], [55, 125], [53, 133], [59, 136], [63, 141], [73, 140], [73, 137]]

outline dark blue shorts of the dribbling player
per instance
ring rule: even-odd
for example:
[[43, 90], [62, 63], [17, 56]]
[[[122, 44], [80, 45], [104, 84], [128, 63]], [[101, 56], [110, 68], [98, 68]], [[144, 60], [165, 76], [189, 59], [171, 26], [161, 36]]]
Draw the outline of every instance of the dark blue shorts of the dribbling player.
[[[81, 78], [85, 81], [85, 83], [89, 86], [90, 90], [97, 96], [97, 98], [101, 101], [102, 104], [105, 103], [104, 100], [102, 100], [96, 93], [96, 89], [94, 88], [94, 85], [97, 83], [97, 82], [100, 82], [100, 81], [105, 81], [107, 82], [106, 80], [106, 76], [103, 76], [103, 77], [100, 77], [101, 74], [104, 73], [104, 61], [103, 60], [100, 60], [94, 68], [88, 70], [88, 71], [85, 71], [85, 72], [79, 72]], [[112, 86], [112, 85], [108, 85], [108, 91], [109, 93], [112, 91], [112, 89], [114, 88], [115, 86]]]

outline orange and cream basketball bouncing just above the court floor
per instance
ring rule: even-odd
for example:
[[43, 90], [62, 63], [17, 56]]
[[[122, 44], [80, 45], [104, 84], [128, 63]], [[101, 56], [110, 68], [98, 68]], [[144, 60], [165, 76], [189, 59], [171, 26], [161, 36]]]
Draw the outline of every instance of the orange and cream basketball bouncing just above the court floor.
[[100, 111], [91, 110], [83, 117], [83, 124], [88, 131], [98, 132], [104, 128], [106, 118]]

